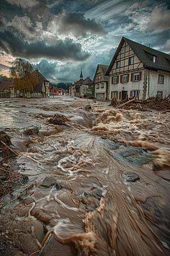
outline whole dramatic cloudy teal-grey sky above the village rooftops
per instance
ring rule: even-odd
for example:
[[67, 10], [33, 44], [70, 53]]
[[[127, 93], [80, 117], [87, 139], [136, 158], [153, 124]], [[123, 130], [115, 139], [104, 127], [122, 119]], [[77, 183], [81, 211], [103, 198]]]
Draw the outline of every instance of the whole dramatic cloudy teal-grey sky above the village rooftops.
[[[1, 75], [20, 57], [51, 82], [93, 80], [122, 36], [170, 53], [170, 1], [1, 0]], [[7, 67], [4, 67], [5, 65]]]

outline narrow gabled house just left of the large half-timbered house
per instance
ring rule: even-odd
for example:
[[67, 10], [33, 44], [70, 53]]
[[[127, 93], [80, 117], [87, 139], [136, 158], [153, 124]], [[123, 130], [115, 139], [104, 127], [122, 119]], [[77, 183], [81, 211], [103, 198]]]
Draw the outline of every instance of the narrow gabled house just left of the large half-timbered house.
[[108, 100], [108, 76], [105, 76], [108, 67], [108, 65], [98, 64], [92, 81], [92, 84], [95, 85], [95, 97], [98, 101]]

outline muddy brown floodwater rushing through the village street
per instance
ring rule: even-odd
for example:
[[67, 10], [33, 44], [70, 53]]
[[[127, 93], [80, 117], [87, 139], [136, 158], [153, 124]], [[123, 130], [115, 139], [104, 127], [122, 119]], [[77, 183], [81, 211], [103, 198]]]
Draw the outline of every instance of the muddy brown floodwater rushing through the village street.
[[[20, 151], [19, 172], [35, 184], [23, 203], [1, 208], [0, 255], [170, 255], [169, 113], [69, 96], [1, 99], [0, 109], [1, 130]], [[55, 113], [69, 125], [50, 124]], [[39, 134], [24, 135], [29, 126]], [[125, 181], [126, 172], [140, 179]]]

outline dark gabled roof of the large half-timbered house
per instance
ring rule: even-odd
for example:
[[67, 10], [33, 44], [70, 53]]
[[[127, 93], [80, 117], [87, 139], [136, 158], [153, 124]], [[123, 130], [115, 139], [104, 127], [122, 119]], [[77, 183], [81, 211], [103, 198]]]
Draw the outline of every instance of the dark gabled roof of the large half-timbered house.
[[[120, 44], [117, 47], [116, 52], [114, 53], [113, 59], [111, 61], [111, 64], [109, 65], [109, 68], [105, 75], [109, 75], [109, 72], [111, 71], [114, 61], [116, 61], [117, 55], [120, 52], [120, 49], [122, 48], [124, 42], [128, 43], [130, 48], [133, 50], [135, 55], [138, 57], [138, 59], [145, 65], [145, 67], [151, 68], [151, 69], [161, 69], [163, 71], [170, 72], [170, 55], [164, 52], [160, 52], [156, 49], [143, 46], [143, 44], [139, 44], [137, 42], [134, 42], [128, 38], [122, 37]], [[156, 62], [154, 63], [149, 55], [156, 57]]]

